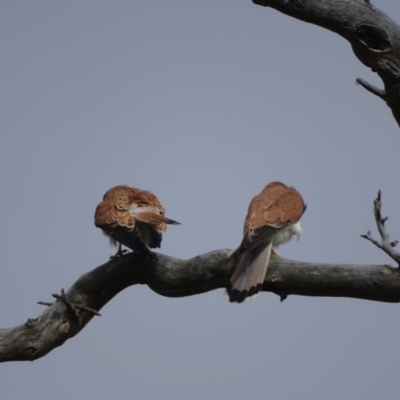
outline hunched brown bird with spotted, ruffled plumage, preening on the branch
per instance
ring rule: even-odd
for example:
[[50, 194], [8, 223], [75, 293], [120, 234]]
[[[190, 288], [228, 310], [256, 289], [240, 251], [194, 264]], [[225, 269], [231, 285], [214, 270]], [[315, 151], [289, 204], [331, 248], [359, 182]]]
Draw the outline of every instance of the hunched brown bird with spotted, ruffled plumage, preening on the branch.
[[126, 251], [121, 250], [124, 245], [146, 259], [157, 261], [149, 247], [161, 246], [167, 224], [179, 224], [165, 217], [164, 212], [153, 193], [120, 185], [104, 195], [96, 208], [94, 224], [110, 237], [111, 244], [119, 243], [117, 253], [111, 258], [122, 255]]

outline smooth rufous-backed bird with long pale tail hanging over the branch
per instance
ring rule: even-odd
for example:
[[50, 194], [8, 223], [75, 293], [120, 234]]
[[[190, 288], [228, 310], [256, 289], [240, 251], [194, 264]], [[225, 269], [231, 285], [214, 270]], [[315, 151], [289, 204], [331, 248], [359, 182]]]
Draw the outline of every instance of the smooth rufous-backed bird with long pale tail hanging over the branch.
[[263, 287], [273, 247], [301, 233], [300, 218], [306, 210], [303, 198], [293, 187], [272, 182], [250, 202], [240, 246], [221, 264], [240, 257], [226, 289], [229, 301], [242, 303]]

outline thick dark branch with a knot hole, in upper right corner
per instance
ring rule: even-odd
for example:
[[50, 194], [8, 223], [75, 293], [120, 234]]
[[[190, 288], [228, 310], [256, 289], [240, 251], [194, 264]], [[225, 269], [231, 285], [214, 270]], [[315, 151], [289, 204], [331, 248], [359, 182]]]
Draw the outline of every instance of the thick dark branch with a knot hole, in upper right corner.
[[366, 0], [253, 0], [347, 39], [358, 59], [381, 79], [385, 90], [362, 86], [386, 101], [400, 125], [400, 26]]

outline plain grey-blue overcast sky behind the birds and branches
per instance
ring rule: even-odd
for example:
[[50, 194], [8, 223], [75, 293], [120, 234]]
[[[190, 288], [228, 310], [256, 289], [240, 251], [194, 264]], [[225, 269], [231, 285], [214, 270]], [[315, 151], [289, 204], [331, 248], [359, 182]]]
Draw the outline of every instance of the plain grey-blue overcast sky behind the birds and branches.
[[[400, 2], [374, 4], [400, 22]], [[171, 256], [236, 247], [252, 197], [281, 180], [308, 204], [282, 256], [393, 265], [360, 235], [378, 238], [381, 189], [400, 239], [400, 131], [341, 37], [243, 0], [4, 0], [0, 37], [0, 327], [107, 261], [93, 214], [117, 184], [182, 223]], [[101, 313], [1, 364], [1, 398], [399, 398], [397, 304], [133, 286]]]

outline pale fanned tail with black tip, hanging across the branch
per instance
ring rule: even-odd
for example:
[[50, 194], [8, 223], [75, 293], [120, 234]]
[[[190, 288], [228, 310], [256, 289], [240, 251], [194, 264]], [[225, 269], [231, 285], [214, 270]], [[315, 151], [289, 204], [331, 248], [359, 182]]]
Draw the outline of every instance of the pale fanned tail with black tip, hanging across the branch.
[[272, 242], [244, 253], [232, 275], [226, 295], [231, 303], [242, 303], [261, 291], [267, 274]]

